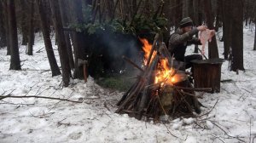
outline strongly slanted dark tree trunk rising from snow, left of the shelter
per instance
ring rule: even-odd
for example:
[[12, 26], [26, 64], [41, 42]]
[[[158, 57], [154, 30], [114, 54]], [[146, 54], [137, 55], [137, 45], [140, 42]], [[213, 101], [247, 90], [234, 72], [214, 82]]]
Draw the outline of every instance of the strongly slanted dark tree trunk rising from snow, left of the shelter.
[[55, 53], [52, 49], [50, 37], [49, 37], [49, 23], [47, 18], [47, 14], [45, 12], [46, 9], [46, 3], [47, 1], [44, 0], [36, 0], [36, 4], [38, 7], [38, 14], [41, 20], [41, 28], [43, 31], [44, 36], [44, 45], [46, 49], [46, 54], [49, 60], [49, 66], [51, 70], [52, 77], [58, 76], [61, 74], [59, 66], [57, 65], [56, 59], [55, 59]]

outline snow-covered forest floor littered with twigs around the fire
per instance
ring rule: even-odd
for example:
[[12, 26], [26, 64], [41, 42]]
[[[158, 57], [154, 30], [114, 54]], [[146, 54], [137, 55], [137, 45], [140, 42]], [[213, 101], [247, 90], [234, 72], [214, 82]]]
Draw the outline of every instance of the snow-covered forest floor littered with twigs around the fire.
[[[254, 31], [254, 30], [253, 30]], [[246, 72], [229, 72], [226, 61], [218, 94], [200, 99], [207, 108], [195, 118], [171, 123], [145, 123], [115, 114], [122, 93], [102, 89], [90, 77], [88, 83], [73, 80], [61, 87], [61, 76], [51, 77], [42, 37], [37, 36], [34, 55], [20, 46], [22, 71], [9, 71], [9, 56], [0, 49], [0, 95], [40, 95], [70, 100], [4, 99], [0, 101], [0, 142], [253, 142], [256, 137], [256, 51], [254, 33], [244, 29]], [[55, 48], [56, 49], [56, 48]], [[223, 43], [218, 42], [220, 56]], [[191, 53], [193, 49], [188, 49]], [[55, 50], [56, 59], [59, 60]], [[215, 105], [216, 104], [216, 105]], [[214, 106], [215, 105], [215, 106]], [[256, 141], [256, 139], [254, 139]]]

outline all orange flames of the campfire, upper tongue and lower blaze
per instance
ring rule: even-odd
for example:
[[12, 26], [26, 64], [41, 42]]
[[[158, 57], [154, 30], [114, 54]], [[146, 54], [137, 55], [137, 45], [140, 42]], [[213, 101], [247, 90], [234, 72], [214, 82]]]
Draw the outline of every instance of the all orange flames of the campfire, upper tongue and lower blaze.
[[[144, 51], [144, 66], [146, 66], [150, 54], [150, 50], [152, 49], [152, 45], [148, 43], [147, 39], [141, 38], [140, 41], [143, 43], [143, 51]], [[150, 63], [154, 59], [154, 56], [156, 55], [156, 51], [154, 50], [152, 54], [152, 58], [150, 60]], [[174, 69], [170, 67], [168, 59], [161, 59], [158, 66], [157, 71], [155, 72], [154, 77], [154, 83], [160, 83], [161, 86], [164, 84], [173, 84], [178, 83], [183, 79], [183, 76], [175, 74]]]

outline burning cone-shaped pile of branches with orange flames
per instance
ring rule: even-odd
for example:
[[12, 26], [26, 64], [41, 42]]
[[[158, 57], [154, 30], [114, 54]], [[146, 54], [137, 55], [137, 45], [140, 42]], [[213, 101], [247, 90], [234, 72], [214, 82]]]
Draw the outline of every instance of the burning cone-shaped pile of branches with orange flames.
[[169, 117], [193, 116], [193, 112], [200, 114], [201, 103], [195, 91], [211, 89], [193, 88], [188, 80], [189, 73], [180, 70], [183, 63], [172, 60], [160, 34], [155, 35], [152, 45], [146, 39], [141, 41], [145, 52], [144, 67], [132, 64], [141, 74], [117, 103], [116, 113], [155, 122]]

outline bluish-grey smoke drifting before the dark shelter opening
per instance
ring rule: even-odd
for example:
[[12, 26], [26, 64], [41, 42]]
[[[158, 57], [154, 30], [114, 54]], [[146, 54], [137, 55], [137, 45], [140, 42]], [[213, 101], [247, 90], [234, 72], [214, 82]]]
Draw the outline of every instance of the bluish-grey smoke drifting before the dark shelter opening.
[[132, 72], [134, 67], [122, 59], [125, 55], [138, 66], [142, 65], [142, 45], [137, 37], [105, 31], [101, 34], [100, 41], [103, 49], [103, 59], [109, 72]]

